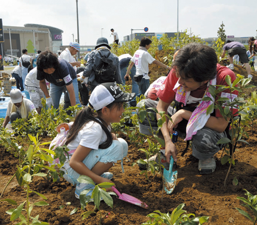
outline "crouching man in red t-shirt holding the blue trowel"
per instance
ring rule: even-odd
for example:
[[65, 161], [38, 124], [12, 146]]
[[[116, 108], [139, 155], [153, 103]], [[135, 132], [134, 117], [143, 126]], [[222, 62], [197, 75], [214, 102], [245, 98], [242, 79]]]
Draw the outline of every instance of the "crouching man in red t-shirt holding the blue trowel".
[[[200, 104], [202, 98], [206, 95], [207, 87], [214, 82], [217, 85], [227, 85], [225, 81], [226, 75], [231, 77], [233, 82], [236, 77], [233, 71], [225, 66], [217, 64], [217, 56], [213, 48], [197, 43], [190, 43], [178, 52], [176, 59], [172, 63], [172, 70], [165, 80], [164, 84], [157, 92], [159, 102], [144, 100], [145, 106], [148, 108], [156, 106], [158, 112], [166, 112], [172, 118], [163, 124], [161, 131], [165, 140], [165, 156], [169, 163], [171, 155], [174, 162], [177, 161], [177, 150], [171, 141], [171, 134], [176, 128], [180, 133], [186, 132], [186, 125]], [[177, 89], [176, 89], [177, 88]], [[171, 102], [175, 100], [177, 90], [183, 90], [184, 107], [173, 113], [171, 110]], [[221, 97], [228, 98], [229, 90], [220, 93]], [[232, 99], [237, 97], [238, 92], [232, 93]], [[217, 145], [217, 141], [226, 137], [225, 129], [228, 126], [226, 121], [218, 110], [215, 110], [210, 117], [203, 114], [205, 119], [194, 121], [199, 123], [202, 128], [193, 133], [192, 137], [187, 140], [192, 141], [192, 155], [199, 159], [200, 174], [208, 174], [214, 172], [216, 163], [214, 154], [222, 149], [222, 145]], [[157, 114], [157, 119], [160, 115]], [[145, 125], [145, 124], [144, 124]], [[188, 132], [186, 133], [188, 135]]]

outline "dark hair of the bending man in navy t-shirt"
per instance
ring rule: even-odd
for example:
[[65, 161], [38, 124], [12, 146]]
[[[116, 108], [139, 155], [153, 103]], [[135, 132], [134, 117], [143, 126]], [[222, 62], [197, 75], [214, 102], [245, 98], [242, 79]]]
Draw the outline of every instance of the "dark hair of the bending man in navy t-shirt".
[[57, 69], [59, 67], [59, 60], [51, 51], [42, 52], [37, 59], [37, 69], [43, 70], [48, 68]]

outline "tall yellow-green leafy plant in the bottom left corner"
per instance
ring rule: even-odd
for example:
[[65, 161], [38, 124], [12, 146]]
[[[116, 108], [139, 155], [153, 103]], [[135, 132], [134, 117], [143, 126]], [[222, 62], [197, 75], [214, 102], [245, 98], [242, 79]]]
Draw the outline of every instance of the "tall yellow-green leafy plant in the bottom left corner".
[[[24, 158], [20, 166], [17, 166], [17, 171], [15, 173], [16, 179], [19, 185], [24, 186], [26, 191], [26, 200], [20, 204], [16, 209], [10, 209], [6, 213], [11, 215], [10, 220], [15, 221], [18, 218], [20, 219], [19, 225], [26, 224], [38, 224], [38, 225], [47, 225], [46, 222], [39, 221], [39, 215], [36, 217], [31, 216], [31, 212], [34, 206], [46, 206], [48, 205], [45, 201], [39, 201], [36, 203], [30, 203], [29, 195], [30, 193], [35, 193], [42, 197], [44, 200], [47, 198], [34, 190], [30, 189], [30, 183], [33, 181], [34, 176], [47, 176], [47, 174], [41, 172], [42, 169], [49, 169], [54, 171], [55, 169], [45, 165], [45, 162], [52, 163], [53, 159], [48, 155], [55, 154], [53, 151], [40, 148], [41, 145], [37, 137], [33, 137], [29, 134], [30, 140], [33, 142], [33, 145], [30, 145], [26, 153], [24, 154]], [[4, 199], [1, 201], [6, 201], [12, 205], [17, 206], [17, 202], [11, 199]], [[25, 207], [26, 206], [26, 207]], [[26, 217], [22, 214], [22, 211], [25, 211]]]

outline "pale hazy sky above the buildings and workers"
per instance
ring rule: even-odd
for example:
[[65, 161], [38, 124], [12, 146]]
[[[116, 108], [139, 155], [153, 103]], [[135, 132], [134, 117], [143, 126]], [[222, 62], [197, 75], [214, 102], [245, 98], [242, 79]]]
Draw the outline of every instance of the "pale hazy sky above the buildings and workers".
[[[95, 45], [98, 38], [113, 42], [110, 29], [124, 36], [143, 33], [177, 32], [201, 38], [217, 37], [223, 21], [225, 34], [235, 37], [257, 35], [254, 2], [243, 0], [78, 0], [81, 45]], [[77, 39], [76, 0], [1, 0], [0, 18], [5, 26], [42, 24], [63, 30], [63, 45]], [[142, 30], [136, 30], [142, 29]]]

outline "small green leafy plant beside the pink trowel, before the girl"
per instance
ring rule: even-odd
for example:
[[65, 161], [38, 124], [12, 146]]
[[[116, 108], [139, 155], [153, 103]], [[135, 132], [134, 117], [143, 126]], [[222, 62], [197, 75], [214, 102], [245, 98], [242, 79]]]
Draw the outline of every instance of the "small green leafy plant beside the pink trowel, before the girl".
[[101, 219], [102, 219], [102, 215], [101, 215], [101, 211], [100, 211], [100, 201], [102, 199], [108, 206], [113, 208], [113, 199], [112, 199], [111, 195], [116, 195], [116, 194], [111, 191], [106, 192], [106, 188], [112, 187], [114, 184], [109, 183], [109, 182], [95, 184], [94, 181], [90, 177], [85, 176], [85, 175], [80, 175], [80, 177], [78, 178], [78, 181], [80, 183], [89, 183], [89, 184], [94, 185], [94, 189], [93, 189], [91, 195], [88, 194], [88, 192], [90, 190], [84, 190], [80, 194], [80, 202], [81, 202], [81, 206], [83, 209], [85, 209], [86, 205], [89, 202], [93, 202], [95, 205], [94, 211], [86, 211], [85, 213], [82, 214], [82, 218], [84, 220], [88, 216], [90, 216], [92, 213], [96, 214], [95, 209], [97, 209], [100, 214], [100, 222], [99, 222], [99, 225], [100, 225]]

